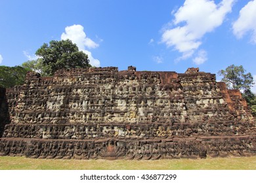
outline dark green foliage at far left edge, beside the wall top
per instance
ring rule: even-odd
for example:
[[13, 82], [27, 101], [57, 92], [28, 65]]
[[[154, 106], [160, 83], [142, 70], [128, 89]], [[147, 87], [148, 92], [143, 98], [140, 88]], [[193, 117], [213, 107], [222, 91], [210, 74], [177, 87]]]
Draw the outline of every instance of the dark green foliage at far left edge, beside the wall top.
[[0, 66], [0, 86], [2, 88], [11, 88], [24, 84], [28, 71], [30, 71], [30, 69], [25, 69], [20, 66]]

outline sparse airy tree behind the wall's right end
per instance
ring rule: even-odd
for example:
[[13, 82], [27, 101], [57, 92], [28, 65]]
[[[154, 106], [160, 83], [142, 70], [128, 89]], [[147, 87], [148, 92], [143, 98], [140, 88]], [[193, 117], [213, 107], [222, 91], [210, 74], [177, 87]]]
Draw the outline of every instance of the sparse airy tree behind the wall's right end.
[[235, 66], [234, 64], [228, 66], [225, 70], [219, 71], [219, 75], [223, 76], [221, 81], [226, 83], [229, 89], [249, 90], [253, 86], [253, 76], [251, 73], [245, 73], [242, 65]]

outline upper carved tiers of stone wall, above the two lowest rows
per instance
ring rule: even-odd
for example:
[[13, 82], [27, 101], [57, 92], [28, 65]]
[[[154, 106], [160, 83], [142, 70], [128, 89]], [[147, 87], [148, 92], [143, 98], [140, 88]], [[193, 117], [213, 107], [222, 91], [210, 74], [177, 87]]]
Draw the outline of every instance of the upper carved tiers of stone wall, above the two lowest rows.
[[223, 91], [210, 73], [118, 72], [111, 67], [32, 76], [8, 95], [12, 124], [236, 120], [228, 105], [242, 116], [238, 120], [251, 120], [244, 103], [226, 101]]

